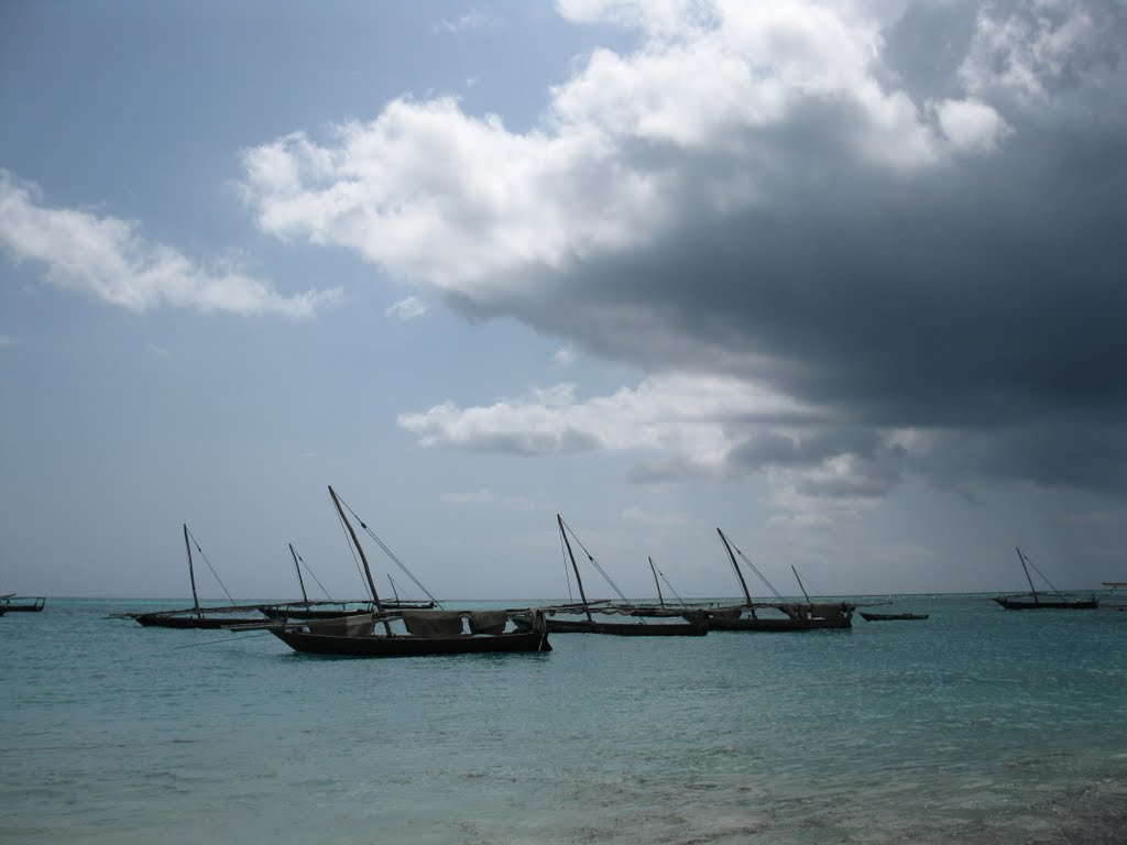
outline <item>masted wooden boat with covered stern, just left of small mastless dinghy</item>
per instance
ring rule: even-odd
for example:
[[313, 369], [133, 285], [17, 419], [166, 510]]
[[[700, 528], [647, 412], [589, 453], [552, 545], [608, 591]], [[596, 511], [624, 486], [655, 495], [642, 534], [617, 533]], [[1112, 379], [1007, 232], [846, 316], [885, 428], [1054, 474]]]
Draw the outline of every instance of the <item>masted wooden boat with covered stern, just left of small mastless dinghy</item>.
[[[845, 602], [811, 602], [806, 596], [806, 587], [799, 578], [799, 587], [806, 596], [806, 602], [788, 602], [779, 592], [771, 586], [771, 582], [756, 569], [747, 555], [733, 545], [731, 541], [720, 530], [716, 530], [724, 542], [724, 548], [728, 552], [728, 559], [736, 572], [736, 578], [744, 592], [745, 604], [725, 610], [709, 612], [709, 626], [713, 631], [762, 631], [778, 633], [783, 631], [819, 631], [827, 629], [848, 629], [853, 626], [853, 605]], [[744, 560], [747, 567], [755, 572], [767, 588], [779, 599], [778, 602], [753, 602], [751, 590], [747, 589], [747, 581], [739, 569], [736, 553]], [[795, 576], [798, 576], [797, 570]], [[773, 610], [777, 615], [761, 615], [761, 610]]]

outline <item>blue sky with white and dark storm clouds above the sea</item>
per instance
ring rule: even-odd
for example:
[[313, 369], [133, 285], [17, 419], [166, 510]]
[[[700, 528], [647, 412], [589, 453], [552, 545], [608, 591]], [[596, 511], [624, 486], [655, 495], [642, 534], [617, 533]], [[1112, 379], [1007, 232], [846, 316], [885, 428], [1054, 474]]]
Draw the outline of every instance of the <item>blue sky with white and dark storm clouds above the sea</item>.
[[0, 593], [190, 596], [186, 523], [201, 598], [295, 597], [290, 543], [358, 598], [330, 484], [445, 599], [567, 597], [558, 514], [633, 597], [737, 595], [718, 527], [782, 593], [1127, 580], [1125, 45], [1110, 0], [6, 2]]

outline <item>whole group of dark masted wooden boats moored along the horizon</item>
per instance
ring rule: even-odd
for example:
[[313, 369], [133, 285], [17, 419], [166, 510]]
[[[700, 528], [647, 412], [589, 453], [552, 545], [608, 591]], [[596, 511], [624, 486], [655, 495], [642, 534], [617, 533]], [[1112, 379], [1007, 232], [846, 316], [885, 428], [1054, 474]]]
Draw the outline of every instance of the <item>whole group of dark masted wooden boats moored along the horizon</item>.
[[[364, 546], [360, 541], [350, 513], [356, 522], [375, 542], [406, 570], [402, 562], [372, 534], [367, 525], [356, 517], [332, 487], [329, 496], [346, 528], [353, 549], [358, 553], [363, 575], [371, 598], [355, 602], [311, 601], [302, 579], [300, 555], [290, 546], [298, 570], [302, 599], [273, 604], [236, 604], [222, 607], [202, 606], [196, 593], [193, 545], [202, 553], [194, 537], [184, 526], [184, 543], [188, 557], [188, 575], [192, 581], [193, 606], [175, 611], [148, 611], [141, 613], [114, 614], [116, 617], [135, 620], [149, 628], [204, 628], [232, 631], [267, 631], [295, 651], [314, 655], [348, 657], [412, 657], [425, 655], [455, 655], [513, 651], [550, 651], [549, 634], [596, 633], [618, 637], [703, 637], [709, 631], [815, 631], [843, 630], [852, 626], [854, 612], [863, 606], [850, 602], [815, 602], [806, 592], [798, 571], [798, 579], [805, 601], [783, 597], [766, 580], [763, 573], [731, 540], [717, 528], [743, 592], [739, 603], [685, 602], [667, 603], [658, 578], [659, 570], [649, 560], [657, 585], [657, 604], [638, 604], [625, 598], [606, 571], [587, 551], [575, 532], [562, 517], [557, 515], [560, 545], [566, 561], [574, 573], [579, 601], [538, 607], [508, 610], [446, 610], [437, 599], [427, 594], [429, 601], [400, 601], [398, 593], [391, 601], [380, 597], [372, 577]], [[347, 510], [347, 513], [346, 513]], [[573, 541], [587, 554], [591, 564], [606, 579], [619, 595], [620, 601], [588, 599], [583, 585], [583, 576], [576, 562]], [[1026, 576], [1029, 578], [1031, 597], [1009, 596], [994, 601], [1008, 610], [1027, 607], [1094, 607], [1094, 596], [1090, 602], [1070, 599], [1054, 593], [1046, 597], [1044, 592], [1032, 588], [1029, 563], [1018, 550]], [[740, 567], [740, 561], [744, 567]], [[754, 601], [744, 569], [754, 572], [774, 595], [774, 601]], [[414, 575], [408, 576], [421, 587]], [[664, 578], [664, 576], [662, 576]], [[569, 576], [570, 579], [570, 576]], [[394, 582], [392, 581], [392, 588]], [[225, 589], [225, 588], [224, 588]], [[42, 602], [42, 599], [41, 599]], [[879, 604], [887, 604], [880, 602]], [[42, 606], [42, 605], [41, 605]], [[921, 621], [926, 613], [881, 613], [860, 611], [867, 622]]]

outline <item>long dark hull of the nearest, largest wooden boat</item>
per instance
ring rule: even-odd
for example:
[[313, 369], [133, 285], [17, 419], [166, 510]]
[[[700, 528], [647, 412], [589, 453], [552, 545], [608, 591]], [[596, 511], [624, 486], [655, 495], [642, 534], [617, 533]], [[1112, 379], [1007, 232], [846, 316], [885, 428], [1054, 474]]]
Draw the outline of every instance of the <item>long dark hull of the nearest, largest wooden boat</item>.
[[434, 657], [438, 655], [495, 655], [513, 651], [551, 651], [548, 634], [517, 631], [471, 637], [339, 637], [270, 629], [294, 651], [335, 657]]

